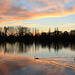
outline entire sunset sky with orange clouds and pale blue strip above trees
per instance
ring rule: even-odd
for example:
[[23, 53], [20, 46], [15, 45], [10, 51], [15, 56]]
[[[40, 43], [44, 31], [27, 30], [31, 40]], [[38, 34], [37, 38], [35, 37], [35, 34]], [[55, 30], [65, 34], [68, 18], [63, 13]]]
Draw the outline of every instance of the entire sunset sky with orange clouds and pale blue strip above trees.
[[0, 27], [75, 29], [75, 0], [0, 0]]

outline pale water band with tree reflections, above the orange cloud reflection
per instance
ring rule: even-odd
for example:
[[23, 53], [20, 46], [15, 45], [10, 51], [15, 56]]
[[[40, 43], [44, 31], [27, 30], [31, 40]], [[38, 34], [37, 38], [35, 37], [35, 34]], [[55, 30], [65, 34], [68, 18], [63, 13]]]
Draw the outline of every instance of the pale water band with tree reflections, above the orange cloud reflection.
[[0, 52], [37, 57], [75, 56], [74, 43], [1, 43]]

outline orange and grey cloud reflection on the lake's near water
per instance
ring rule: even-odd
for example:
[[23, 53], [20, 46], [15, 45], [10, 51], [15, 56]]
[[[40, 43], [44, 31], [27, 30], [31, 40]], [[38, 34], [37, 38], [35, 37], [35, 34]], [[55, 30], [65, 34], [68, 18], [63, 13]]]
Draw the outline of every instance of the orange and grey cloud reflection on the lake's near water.
[[[1, 52], [0, 75], [75, 75], [75, 61], [66, 61], [67, 58], [73, 59], [74, 57], [34, 59], [18, 55], [5, 55]], [[62, 60], [60, 61], [60, 59]]]

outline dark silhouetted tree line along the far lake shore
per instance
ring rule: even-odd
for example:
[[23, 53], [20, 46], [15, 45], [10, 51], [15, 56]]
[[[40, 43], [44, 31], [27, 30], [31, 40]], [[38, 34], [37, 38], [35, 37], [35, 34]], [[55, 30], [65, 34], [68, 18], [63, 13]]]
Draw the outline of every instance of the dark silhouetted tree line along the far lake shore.
[[37, 28], [28, 28], [28, 27], [0, 27], [0, 42], [3, 41], [65, 41], [65, 42], [75, 42], [75, 30], [68, 31], [59, 31], [58, 28], [55, 28], [51, 32], [50, 28], [48, 32], [39, 32]]

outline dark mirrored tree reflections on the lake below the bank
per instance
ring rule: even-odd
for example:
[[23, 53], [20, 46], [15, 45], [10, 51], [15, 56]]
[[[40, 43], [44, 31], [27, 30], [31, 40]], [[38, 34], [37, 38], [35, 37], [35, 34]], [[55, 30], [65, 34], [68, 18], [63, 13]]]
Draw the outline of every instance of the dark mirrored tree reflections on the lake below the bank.
[[[60, 53], [61, 52], [66, 52], [67, 49], [72, 52], [73, 54], [75, 54], [75, 43], [67, 43], [67, 42], [51, 42], [51, 43], [43, 43], [43, 42], [14, 42], [14, 43], [9, 43], [9, 42], [5, 42], [5, 43], [1, 43], [0, 44], [0, 52], [4, 52], [4, 53], [11, 53], [11, 54], [18, 54], [18, 53], [38, 53], [41, 54], [41, 52], [45, 53], [51, 53], [51, 51], [54, 51], [54, 53]], [[66, 52], [69, 53], [69, 51]], [[71, 53], [71, 55], [72, 55]], [[36, 54], [33, 54], [33, 56]], [[62, 55], [64, 56], [64, 54], [62, 53]], [[43, 54], [43, 56], [45, 56]]]

